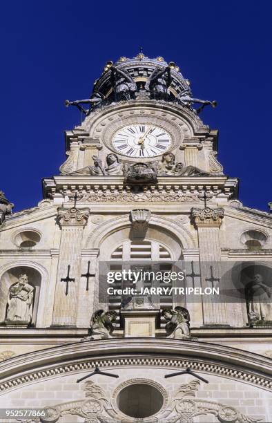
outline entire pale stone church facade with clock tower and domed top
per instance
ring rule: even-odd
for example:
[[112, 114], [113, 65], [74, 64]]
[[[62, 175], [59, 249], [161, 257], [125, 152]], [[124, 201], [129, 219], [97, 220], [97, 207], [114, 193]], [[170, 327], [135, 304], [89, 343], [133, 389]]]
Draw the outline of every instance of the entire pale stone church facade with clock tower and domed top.
[[271, 422], [272, 217], [217, 160], [216, 102], [139, 53], [66, 105], [43, 199], [0, 194], [0, 404], [33, 411], [5, 421]]

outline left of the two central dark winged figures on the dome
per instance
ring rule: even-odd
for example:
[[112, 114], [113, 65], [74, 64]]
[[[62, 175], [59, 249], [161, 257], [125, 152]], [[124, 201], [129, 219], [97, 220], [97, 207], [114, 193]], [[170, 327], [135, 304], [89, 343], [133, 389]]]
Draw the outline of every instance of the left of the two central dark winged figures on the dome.
[[125, 69], [112, 66], [110, 69], [110, 82], [115, 93], [115, 101], [130, 100], [130, 98], [135, 97], [136, 82]]

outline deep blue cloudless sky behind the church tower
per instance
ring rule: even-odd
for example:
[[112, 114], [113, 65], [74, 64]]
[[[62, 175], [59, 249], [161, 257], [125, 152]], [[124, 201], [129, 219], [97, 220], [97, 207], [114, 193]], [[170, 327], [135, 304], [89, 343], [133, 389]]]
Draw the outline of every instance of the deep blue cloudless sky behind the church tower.
[[41, 178], [65, 160], [64, 130], [107, 60], [176, 62], [202, 119], [220, 130], [219, 158], [240, 177], [240, 200], [267, 210], [271, 191], [271, 12], [261, 1], [5, 1], [0, 6], [0, 189], [14, 210], [37, 205]]

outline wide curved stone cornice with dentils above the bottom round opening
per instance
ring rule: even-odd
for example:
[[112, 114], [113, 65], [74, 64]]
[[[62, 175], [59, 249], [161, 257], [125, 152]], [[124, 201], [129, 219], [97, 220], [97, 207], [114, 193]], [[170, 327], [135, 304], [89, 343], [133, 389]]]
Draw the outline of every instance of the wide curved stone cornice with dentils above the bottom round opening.
[[0, 391], [61, 374], [82, 373], [95, 366], [163, 366], [169, 370], [190, 367], [267, 390], [272, 388], [268, 357], [206, 342], [124, 338], [78, 342], [10, 358], [0, 363]]

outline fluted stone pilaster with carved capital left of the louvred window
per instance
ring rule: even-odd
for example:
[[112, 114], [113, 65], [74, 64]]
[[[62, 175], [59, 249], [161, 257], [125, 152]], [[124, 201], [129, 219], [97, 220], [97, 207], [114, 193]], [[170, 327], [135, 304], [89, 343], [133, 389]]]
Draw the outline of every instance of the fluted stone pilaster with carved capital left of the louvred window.
[[[83, 229], [89, 209], [58, 209], [61, 227], [59, 263], [52, 326], [76, 326]], [[68, 267], [70, 266], [70, 267]], [[70, 269], [70, 272], [68, 271]], [[69, 272], [69, 274], [68, 274]], [[69, 276], [73, 281], [61, 281]]]

